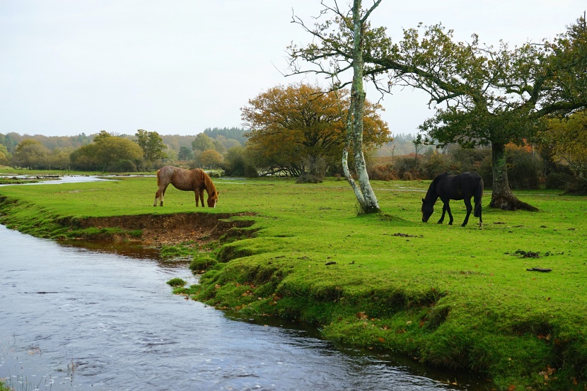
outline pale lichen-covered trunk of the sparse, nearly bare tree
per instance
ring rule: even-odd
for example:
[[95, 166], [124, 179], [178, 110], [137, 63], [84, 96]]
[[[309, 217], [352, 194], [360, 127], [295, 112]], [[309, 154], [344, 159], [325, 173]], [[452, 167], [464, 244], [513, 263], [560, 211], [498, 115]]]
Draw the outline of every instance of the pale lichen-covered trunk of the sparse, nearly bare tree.
[[[347, 144], [342, 153], [342, 169], [344, 176], [353, 188], [356, 199], [364, 213], [379, 211], [377, 197], [369, 182], [367, 165], [363, 153], [363, 113], [366, 93], [363, 87], [363, 27], [361, 20], [361, 0], [353, 2], [353, 84], [351, 103], [347, 117]], [[350, 137], [350, 139], [349, 139]], [[356, 174], [359, 176], [359, 187], [349, 173], [349, 146], [352, 144]]]

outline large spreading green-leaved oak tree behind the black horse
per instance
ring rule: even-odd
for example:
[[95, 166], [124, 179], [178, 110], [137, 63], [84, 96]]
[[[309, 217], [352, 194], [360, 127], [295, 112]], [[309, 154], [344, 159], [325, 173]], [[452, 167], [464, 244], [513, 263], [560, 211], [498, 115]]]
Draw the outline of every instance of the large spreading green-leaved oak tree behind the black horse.
[[[535, 207], [521, 202], [508, 184], [506, 144], [521, 144], [540, 129], [541, 117], [587, 105], [587, 32], [580, 19], [552, 42], [510, 49], [455, 42], [441, 25], [405, 30], [398, 44], [380, 35], [366, 50], [373, 75], [390, 72], [390, 85], [419, 88], [436, 104], [436, 115], [420, 127], [424, 141], [492, 146], [490, 206]], [[380, 30], [379, 30], [379, 33]]]

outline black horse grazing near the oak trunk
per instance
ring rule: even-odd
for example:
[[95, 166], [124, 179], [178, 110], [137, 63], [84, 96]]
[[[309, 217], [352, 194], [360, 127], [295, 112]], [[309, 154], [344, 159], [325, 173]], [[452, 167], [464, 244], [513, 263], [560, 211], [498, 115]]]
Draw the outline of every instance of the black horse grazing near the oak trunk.
[[453, 214], [451, 214], [451, 207], [448, 206], [448, 202], [451, 199], [463, 199], [465, 206], [467, 206], [467, 216], [465, 216], [465, 221], [463, 221], [461, 226], [466, 226], [473, 209], [471, 206], [471, 197], [474, 197], [475, 213], [473, 216], [479, 218], [479, 226], [482, 226], [481, 198], [483, 197], [483, 180], [477, 173], [462, 173], [459, 175], [443, 173], [436, 176], [430, 184], [428, 192], [426, 192], [426, 198], [422, 199], [422, 221], [424, 223], [428, 221], [432, 212], [434, 212], [434, 204], [438, 197], [440, 197], [444, 204], [442, 207], [442, 216], [438, 220], [438, 224], [444, 221], [444, 214], [448, 212], [448, 217], [451, 218], [448, 221], [448, 225], [452, 226]]

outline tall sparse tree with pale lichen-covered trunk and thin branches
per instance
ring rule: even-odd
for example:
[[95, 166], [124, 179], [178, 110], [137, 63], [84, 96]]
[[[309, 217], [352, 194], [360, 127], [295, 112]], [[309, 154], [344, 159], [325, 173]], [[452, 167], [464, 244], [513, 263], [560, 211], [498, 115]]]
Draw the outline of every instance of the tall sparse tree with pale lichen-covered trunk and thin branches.
[[[379, 211], [377, 197], [369, 182], [365, 156], [363, 151], [364, 105], [366, 93], [364, 90], [364, 50], [367, 35], [371, 35], [368, 18], [377, 8], [381, 0], [373, 0], [367, 9], [362, 8], [361, 0], [354, 0], [350, 10], [343, 11], [336, 0], [332, 6], [320, 4], [324, 7], [320, 16], [332, 15], [323, 23], [316, 23], [308, 27], [300, 18], [293, 16], [292, 23], [297, 23], [313, 36], [318, 43], [310, 43], [306, 47], [289, 46], [290, 69], [293, 74], [313, 73], [325, 76], [332, 83], [332, 89], [338, 90], [351, 86], [349, 107], [347, 107], [347, 140], [342, 153], [342, 169], [344, 177], [351, 185], [357, 202], [364, 213]], [[318, 17], [320, 18], [320, 17]], [[317, 18], [317, 19], [318, 19]], [[303, 60], [309, 69], [298, 64]], [[343, 78], [352, 72], [352, 77]], [[344, 74], [344, 75], [343, 75]], [[349, 153], [352, 151], [354, 166], [359, 183], [353, 179], [349, 170]]]

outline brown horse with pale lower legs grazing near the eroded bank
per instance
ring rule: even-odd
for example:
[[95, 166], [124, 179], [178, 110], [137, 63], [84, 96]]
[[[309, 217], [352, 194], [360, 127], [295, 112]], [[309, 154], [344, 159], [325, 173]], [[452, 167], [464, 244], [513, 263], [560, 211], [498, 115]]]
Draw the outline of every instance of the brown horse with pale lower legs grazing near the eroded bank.
[[193, 170], [185, 170], [183, 168], [174, 167], [173, 165], [165, 165], [157, 171], [157, 192], [155, 194], [155, 202], [153, 206], [157, 206], [157, 199], [161, 201], [163, 206], [163, 197], [165, 196], [165, 189], [173, 185], [176, 189], [185, 190], [187, 192], [194, 192], [196, 194], [196, 206], [198, 206], [198, 196], [202, 201], [202, 207], [204, 207], [204, 189], [208, 193], [208, 206], [210, 208], [216, 208], [216, 202], [218, 202], [218, 194], [216, 186], [212, 183], [212, 180], [207, 173], [194, 168]]

